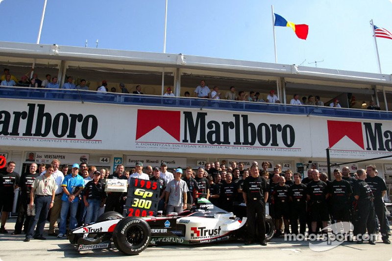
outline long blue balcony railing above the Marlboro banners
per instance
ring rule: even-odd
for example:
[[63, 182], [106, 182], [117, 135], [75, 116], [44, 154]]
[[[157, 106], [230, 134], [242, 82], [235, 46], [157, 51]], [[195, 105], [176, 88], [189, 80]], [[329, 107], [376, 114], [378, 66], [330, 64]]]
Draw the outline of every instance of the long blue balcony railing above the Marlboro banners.
[[[191, 97], [101, 93], [85, 90], [63, 90], [24, 87], [0, 87], [0, 98], [79, 101], [94, 103], [129, 104], [141, 106], [181, 107], [230, 110], [242, 112], [314, 115], [324, 117], [392, 120], [392, 113], [362, 109], [325, 106], [271, 104], [263, 102], [213, 100]], [[1, 104], [1, 103], [0, 103]], [[1, 108], [0, 105], [0, 109]]]

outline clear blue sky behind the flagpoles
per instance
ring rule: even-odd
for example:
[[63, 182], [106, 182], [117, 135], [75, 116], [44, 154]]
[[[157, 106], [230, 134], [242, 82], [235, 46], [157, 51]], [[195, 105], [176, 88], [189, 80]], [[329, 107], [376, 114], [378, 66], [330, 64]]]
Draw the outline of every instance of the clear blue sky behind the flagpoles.
[[[37, 42], [45, 0], [0, 0], [0, 41]], [[40, 44], [163, 52], [165, 0], [48, 0]], [[168, 0], [167, 53], [274, 63], [271, 5], [307, 40], [275, 27], [280, 64], [378, 72], [369, 21], [392, 31], [392, 0]], [[392, 40], [377, 38], [392, 74]], [[1, 46], [1, 45], [0, 45]]]

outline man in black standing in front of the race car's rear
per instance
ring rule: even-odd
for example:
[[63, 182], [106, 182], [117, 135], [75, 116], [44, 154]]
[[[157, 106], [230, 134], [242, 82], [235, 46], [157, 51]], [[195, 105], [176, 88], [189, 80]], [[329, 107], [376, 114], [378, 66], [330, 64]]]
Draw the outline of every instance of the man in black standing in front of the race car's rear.
[[256, 222], [259, 228], [259, 242], [266, 246], [266, 202], [268, 190], [266, 180], [259, 174], [259, 166], [250, 167], [251, 175], [247, 177], [243, 185], [243, 197], [246, 204], [246, 217], [248, 222], [248, 241], [246, 245], [253, 243], [255, 239]]

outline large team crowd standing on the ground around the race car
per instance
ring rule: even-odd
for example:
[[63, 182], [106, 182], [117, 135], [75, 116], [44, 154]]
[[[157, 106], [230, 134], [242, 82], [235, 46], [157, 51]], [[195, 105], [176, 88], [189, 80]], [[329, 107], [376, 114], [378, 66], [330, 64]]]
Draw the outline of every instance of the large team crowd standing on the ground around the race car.
[[[0, 233], [8, 233], [5, 224], [9, 212], [12, 211], [14, 192], [20, 188], [18, 199], [18, 218], [12, 235], [25, 233], [25, 241], [30, 238], [43, 237], [44, 226], [49, 216], [49, 236], [64, 237], [69, 229], [83, 224], [95, 222], [100, 214], [116, 211], [123, 214], [126, 201], [125, 192], [106, 192], [106, 179], [131, 178], [155, 181], [160, 187], [158, 211], [164, 214], [180, 213], [190, 210], [196, 197], [205, 197], [217, 207], [233, 212], [238, 203], [246, 204], [248, 217], [249, 240], [255, 240], [255, 223], [259, 224], [259, 235], [264, 235], [266, 203], [269, 203], [269, 214], [275, 222], [275, 237], [283, 234], [308, 235], [325, 234], [327, 222], [351, 222], [358, 243], [363, 240], [358, 235], [374, 235], [375, 230], [381, 232], [382, 241], [390, 244], [389, 221], [383, 196], [386, 193], [384, 180], [377, 175], [376, 167], [370, 165], [359, 169], [350, 176], [349, 168], [334, 170], [334, 181], [329, 181], [326, 173], [318, 169], [309, 169], [307, 177], [302, 179], [301, 173], [293, 173], [291, 169], [282, 172], [277, 164], [272, 168], [269, 162], [263, 162], [259, 169], [253, 162], [245, 168], [243, 162], [225, 161], [207, 163], [197, 170], [188, 166], [168, 171], [167, 164], [161, 166], [144, 166], [137, 162], [134, 173], [124, 170], [118, 165], [110, 174], [107, 169], [86, 163], [73, 164], [69, 169], [53, 160], [50, 165], [38, 166], [32, 163], [29, 171], [20, 176], [14, 171], [15, 162], [8, 162], [0, 172]], [[132, 171], [133, 172], [133, 171]], [[185, 172], [185, 173], [184, 173]], [[35, 214], [31, 209], [35, 206]], [[67, 217], [69, 222], [67, 222]], [[55, 232], [55, 224], [60, 217], [59, 232]], [[260, 243], [265, 245], [263, 238]], [[368, 240], [374, 244], [373, 239]]]

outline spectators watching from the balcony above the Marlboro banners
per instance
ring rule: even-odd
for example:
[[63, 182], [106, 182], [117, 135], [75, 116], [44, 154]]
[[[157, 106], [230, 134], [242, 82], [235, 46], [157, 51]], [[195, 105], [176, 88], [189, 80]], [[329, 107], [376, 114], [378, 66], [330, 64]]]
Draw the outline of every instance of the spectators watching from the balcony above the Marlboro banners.
[[[4, 75], [0, 78], [0, 85], [2, 86], [21, 86], [21, 87], [30, 87], [30, 88], [50, 88], [50, 89], [65, 89], [65, 90], [89, 90], [87, 86], [87, 82], [85, 79], [79, 79], [78, 84], [75, 85], [73, 83], [73, 77], [67, 76], [66, 83], [60, 88], [60, 84], [58, 83], [57, 76], [51, 76], [50, 74], [46, 74], [45, 80], [40, 80], [38, 78], [37, 73], [33, 73], [32, 77], [30, 78], [29, 75], [34, 71], [31, 69], [25, 75], [22, 76], [22, 80], [19, 80], [12, 74], [10, 74], [9, 69], [4, 69]], [[128, 89], [125, 87], [124, 83], [120, 83], [118, 88], [110, 87], [111, 93], [122, 93], [122, 94], [129, 94]], [[109, 87], [107, 81], [103, 80], [101, 85], [98, 86], [97, 92], [109, 92]], [[142, 86], [136, 85], [135, 91], [132, 94], [143, 94], [142, 93]], [[172, 88], [168, 87], [166, 89], [166, 93], [164, 94], [165, 97], [174, 97], [174, 93], [172, 92]], [[190, 93], [185, 92], [185, 97], [189, 97]], [[261, 96], [259, 92], [250, 91], [249, 93], [245, 93], [244, 91], [235, 91], [235, 87], [231, 86], [229, 90], [222, 95], [219, 87], [215, 86], [211, 91], [210, 88], [206, 85], [205, 80], [201, 80], [200, 85], [196, 87], [194, 92], [195, 97], [199, 98], [209, 98], [209, 99], [225, 99], [225, 100], [232, 100], [232, 101], [254, 101], [254, 102], [267, 102], [267, 103], [281, 103], [279, 98], [275, 95], [275, 91], [271, 90], [270, 94], [267, 95], [265, 98]], [[294, 97], [290, 100], [290, 104], [292, 105], [315, 105], [315, 106], [324, 106], [324, 103], [320, 100], [320, 96], [316, 95], [309, 95], [303, 96], [301, 99], [299, 95], [294, 94]], [[380, 110], [378, 105], [374, 104], [374, 101], [369, 101], [369, 106], [367, 107], [368, 110]], [[339, 99], [333, 99], [333, 101], [329, 104], [330, 107], [341, 108], [339, 103]]]

